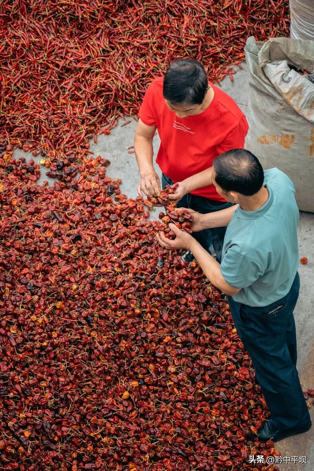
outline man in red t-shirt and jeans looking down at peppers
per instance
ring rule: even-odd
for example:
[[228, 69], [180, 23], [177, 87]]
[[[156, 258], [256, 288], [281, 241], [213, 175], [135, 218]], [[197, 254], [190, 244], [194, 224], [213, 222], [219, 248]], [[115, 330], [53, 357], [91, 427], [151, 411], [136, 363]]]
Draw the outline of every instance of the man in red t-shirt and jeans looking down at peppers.
[[[235, 101], [208, 82], [204, 67], [193, 59], [178, 59], [149, 85], [139, 110], [134, 149], [141, 180], [140, 196], [159, 196], [162, 187], [179, 183], [170, 198], [178, 207], [208, 213], [232, 205], [218, 195], [211, 166], [217, 155], [244, 146], [248, 123]], [[153, 136], [161, 139], [153, 168]], [[212, 245], [220, 262], [225, 227], [194, 233], [209, 251]], [[185, 260], [193, 260], [186, 253]]]

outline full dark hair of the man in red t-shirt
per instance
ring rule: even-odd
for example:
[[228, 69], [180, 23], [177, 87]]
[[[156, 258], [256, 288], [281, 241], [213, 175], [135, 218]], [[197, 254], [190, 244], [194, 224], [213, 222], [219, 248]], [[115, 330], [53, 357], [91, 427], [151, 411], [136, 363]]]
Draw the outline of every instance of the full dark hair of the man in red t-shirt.
[[177, 59], [165, 73], [162, 94], [172, 105], [201, 105], [207, 90], [207, 75], [197, 60]]

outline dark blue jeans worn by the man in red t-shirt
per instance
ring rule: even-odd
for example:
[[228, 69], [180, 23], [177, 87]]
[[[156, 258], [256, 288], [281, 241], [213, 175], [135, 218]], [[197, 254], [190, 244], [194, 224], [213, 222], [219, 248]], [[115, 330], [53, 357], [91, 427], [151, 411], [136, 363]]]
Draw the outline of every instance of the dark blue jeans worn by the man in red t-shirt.
[[[173, 181], [164, 173], [161, 178], [161, 186], [172, 185]], [[207, 214], [208, 212], [220, 211], [233, 206], [233, 203], [221, 203], [220, 201], [209, 200], [202, 196], [187, 193], [178, 203], [178, 208], [191, 208], [194, 211]], [[226, 227], [213, 227], [212, 229], [204, 229], [200, 232], [193, 232], [193, 237], [201, 246], [209, 253], [209, 247], [212, 245], [216, 253], [217, 261], [221, 262], [221, 252], [224, 244]]]

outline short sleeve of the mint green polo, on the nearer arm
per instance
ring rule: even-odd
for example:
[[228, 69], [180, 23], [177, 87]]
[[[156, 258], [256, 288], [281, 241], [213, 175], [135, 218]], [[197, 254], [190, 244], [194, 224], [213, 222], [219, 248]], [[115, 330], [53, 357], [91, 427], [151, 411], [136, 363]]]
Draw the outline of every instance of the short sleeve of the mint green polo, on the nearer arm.
[[264, 269], [257, 261], [237, 252], [233, 246], [225, 252], [220, 271], [234, 288], [247, 288], [264, 275]]

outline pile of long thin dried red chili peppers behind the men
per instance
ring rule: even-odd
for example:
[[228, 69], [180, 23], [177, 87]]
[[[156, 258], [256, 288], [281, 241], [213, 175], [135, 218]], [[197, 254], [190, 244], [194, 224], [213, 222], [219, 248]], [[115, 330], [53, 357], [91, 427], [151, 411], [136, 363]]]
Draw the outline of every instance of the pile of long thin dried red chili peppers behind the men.
[[4, 0], [0, 143], [81, 159], [171, 60], [232, 78], [248, 36], [289, 36], [288, 12], [288, 0]]

